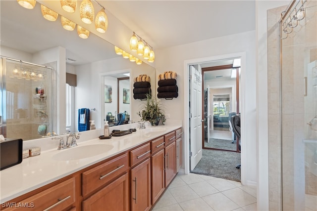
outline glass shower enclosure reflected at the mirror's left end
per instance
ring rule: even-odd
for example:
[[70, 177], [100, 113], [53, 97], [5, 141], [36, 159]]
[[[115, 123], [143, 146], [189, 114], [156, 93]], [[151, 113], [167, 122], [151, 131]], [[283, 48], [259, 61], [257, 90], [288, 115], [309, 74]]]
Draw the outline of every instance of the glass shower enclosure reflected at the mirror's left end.
[[1, 130], [31, 140], [52, 130], [52, 69], [1, 58]]

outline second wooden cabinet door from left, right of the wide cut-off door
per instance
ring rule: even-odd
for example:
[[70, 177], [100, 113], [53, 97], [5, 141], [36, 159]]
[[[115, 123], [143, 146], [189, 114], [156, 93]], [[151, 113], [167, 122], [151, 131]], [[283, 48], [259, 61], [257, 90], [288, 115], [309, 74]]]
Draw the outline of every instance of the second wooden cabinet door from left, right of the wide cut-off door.
[[131, 169], [131, 210], [148, 211], [151, 208], [150, 158]]

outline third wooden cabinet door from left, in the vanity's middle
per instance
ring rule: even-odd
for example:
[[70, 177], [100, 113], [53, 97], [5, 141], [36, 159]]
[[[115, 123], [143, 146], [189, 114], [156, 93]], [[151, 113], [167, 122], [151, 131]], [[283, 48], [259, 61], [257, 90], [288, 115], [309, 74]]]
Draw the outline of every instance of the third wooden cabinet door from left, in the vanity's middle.
[[161, 149], [151, 158], [151, 173], [152, 173], [152, 205], [159, 199], [165, 188], [164, 179], [164, 149]]

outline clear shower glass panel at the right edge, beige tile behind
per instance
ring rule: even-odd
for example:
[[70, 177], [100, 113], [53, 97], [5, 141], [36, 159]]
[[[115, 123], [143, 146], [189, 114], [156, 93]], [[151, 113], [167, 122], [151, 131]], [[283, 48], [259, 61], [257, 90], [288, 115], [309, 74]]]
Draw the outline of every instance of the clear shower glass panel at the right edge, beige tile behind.
[[280, 24], [282, 210], [317, 210], [317, 1], [294, 2]]

